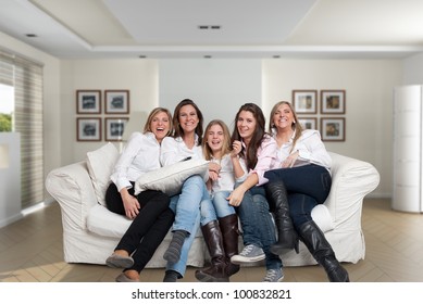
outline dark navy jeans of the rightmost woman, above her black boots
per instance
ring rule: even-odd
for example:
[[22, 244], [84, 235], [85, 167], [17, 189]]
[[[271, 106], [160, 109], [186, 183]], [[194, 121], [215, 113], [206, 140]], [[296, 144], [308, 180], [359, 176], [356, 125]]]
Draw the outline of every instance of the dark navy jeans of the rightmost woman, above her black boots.
[[312, 220], [312, 208], [325, 202], [332, 186], [329, 172], [315, 164], [268, 170], [264, 177], [269, 182], [284, 182], [288, 192], [289, 215], [296, 228]]

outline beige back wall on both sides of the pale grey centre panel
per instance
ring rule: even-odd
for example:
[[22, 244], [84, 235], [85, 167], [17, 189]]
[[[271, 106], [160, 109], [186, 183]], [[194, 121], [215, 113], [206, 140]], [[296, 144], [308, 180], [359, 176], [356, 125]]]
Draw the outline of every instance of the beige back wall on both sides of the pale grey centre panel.
[[[132, 111], [149, 112], [160, 104], [160, 61], [59, 61], [1, 33], [0, 38], [2, 47], [45, 64], [46, 174], [84, 160], [86, 152], [104, 143], [76, 142], [77, 89], [128, 89]], [[209, 64], [213, 61], [209, 60]], [[263, 60], [263, 111], [268, 116], [276, 101], [290, 100], [293, 89], [345, 89], [347, 140], [326, 147], [372, 163], [381, 173], [381, 185], [372, 194], [390, 197], [393, 88], [402, 83], [402, 68], [399, 60]], [[224, 68], [221, 73], [225, 73]], [[225, 109], [225, 104], [216, 101], [213, 107]]]

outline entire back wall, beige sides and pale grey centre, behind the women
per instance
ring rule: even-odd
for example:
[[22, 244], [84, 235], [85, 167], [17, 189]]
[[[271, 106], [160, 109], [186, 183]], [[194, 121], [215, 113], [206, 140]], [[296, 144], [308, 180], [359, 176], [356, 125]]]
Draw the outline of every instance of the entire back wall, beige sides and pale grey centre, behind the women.
[[[2, 47], [45, 64], [46, 174], [60, 165], [84, 160], [86, 152], [104, 143], [76, 142], [77, 89], [128, 89], [130, 110], [147, 112], [159, 104], [173, 110], [181, 99], [188, 97], [204, 109], [207, 122], [220, 116], [231, 123], [245, 102], [262, 102], [269, 116], [276, 101], [291, 99], [294, 89], [345, 89], [347, 140], [327, 142], [326, 147], [372, 163], [381, 173], [381, 185], [373, 194], [389, 197], [393, 88], [403, 83], [423, 81], [423, 55], [403, 62], [288, 59], [59, 61], [4, 34], [0, 33], [0, 38]], [[184, 80], [185, 77], [189, 81]], [[100, 116], [104, 117], [103, 114]]]

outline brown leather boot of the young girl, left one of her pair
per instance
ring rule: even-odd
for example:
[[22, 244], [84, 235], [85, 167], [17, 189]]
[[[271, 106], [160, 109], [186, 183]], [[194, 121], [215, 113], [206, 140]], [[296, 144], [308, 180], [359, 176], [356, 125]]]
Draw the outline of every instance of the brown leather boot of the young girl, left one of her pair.
[[202, 236], [211, 257], [211, 266], [196, 271], [197, 280], [201, 282], [228, 282], [226, 275], [226, 256], [223, 246], [219, 221], [213, 220], [201, 227]]

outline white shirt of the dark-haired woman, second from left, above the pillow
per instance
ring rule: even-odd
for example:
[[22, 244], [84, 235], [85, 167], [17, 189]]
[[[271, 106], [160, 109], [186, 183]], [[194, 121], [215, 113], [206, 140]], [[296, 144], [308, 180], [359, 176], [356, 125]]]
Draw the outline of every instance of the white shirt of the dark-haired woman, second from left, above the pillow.
[[173, 138], [165, 137], [162, 140], [162, 149], [160, 153], [160, 163], [163, 166], [169, 166], [191, 157], [192, 160], [203, 160], [201, 145], [198, 145], [198, 136], [196, 135], [196, 143], [192, 149], [189, 149], [182, 137]]

